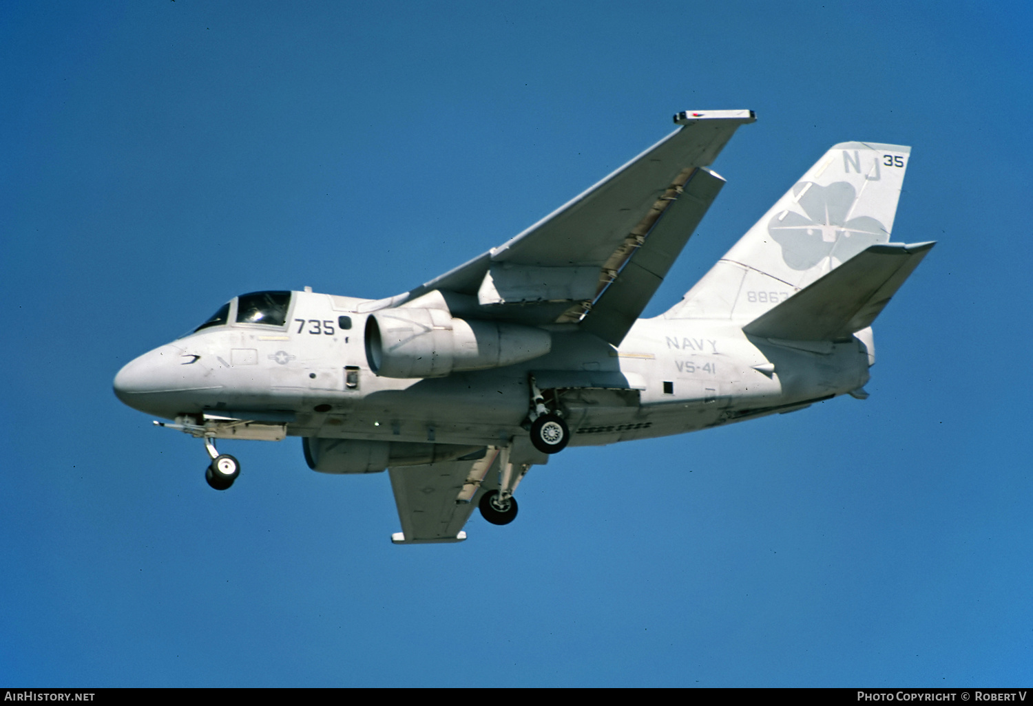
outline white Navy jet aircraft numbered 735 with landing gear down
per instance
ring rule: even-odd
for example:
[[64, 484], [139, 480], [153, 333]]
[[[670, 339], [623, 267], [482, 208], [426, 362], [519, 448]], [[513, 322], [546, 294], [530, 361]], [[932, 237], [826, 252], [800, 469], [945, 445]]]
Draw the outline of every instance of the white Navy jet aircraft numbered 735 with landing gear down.
[[506, 524], [567, 446], [695, 431], [864, 398], [871, 325], [933, 243], [890, 243], [910, 148], [834, 146], [667, 312], [639, 319], [724, 180], [752, 110], [696, 110], [530, 228], [411, 291], [234, 297], [115, 378], [130, 407], [204, 440], [301, 437], [332, 474], [387, 470], [398, 544]]

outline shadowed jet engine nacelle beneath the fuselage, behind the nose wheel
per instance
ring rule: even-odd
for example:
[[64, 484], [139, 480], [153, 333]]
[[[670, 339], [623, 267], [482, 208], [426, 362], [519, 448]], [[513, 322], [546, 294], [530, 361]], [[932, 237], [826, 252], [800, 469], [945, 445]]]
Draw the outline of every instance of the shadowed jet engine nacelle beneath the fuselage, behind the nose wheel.
[[379, 473], [387, 467], [424, 466], [455, 460], [484, 448], [308, 437], [302, 439], [302, 445], [305, 449], [305, 461], [310, 469], [319, 473]]

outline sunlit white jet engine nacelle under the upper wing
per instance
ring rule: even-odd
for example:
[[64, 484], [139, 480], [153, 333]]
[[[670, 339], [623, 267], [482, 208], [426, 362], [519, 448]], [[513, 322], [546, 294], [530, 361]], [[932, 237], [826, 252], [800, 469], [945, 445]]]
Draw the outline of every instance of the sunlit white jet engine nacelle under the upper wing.
[[440, 309], [387, 309], [366, 320], [366, 359], [385, 378], [443, 378], [503, 367], [545, 355], [549, 331], [456, 319]]

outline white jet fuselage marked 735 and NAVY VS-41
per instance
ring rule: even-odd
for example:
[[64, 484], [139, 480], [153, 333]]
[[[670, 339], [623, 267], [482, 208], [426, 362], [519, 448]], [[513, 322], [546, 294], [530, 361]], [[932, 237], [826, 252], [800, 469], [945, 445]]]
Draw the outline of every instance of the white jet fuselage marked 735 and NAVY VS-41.
[[245, 316], [234, 298], [214, 323], [129, 362], [119, 398], [166, 419], [282, 422], [289, 436], [488, 445], [526, 435], [534, 376], [570, 444], [588, 446], [791, 411], [868, 380], [871, 344], [857, 338], [809, 346], [753, 339], [743, 322], [663, 317], [638, 320], [619, 347], [558, 327], [550, 353], [520, 364], [386, 378], [367, 360], [369, 300], [273, 294], [287, 295], [277, 316]]

